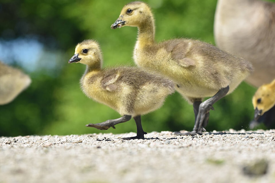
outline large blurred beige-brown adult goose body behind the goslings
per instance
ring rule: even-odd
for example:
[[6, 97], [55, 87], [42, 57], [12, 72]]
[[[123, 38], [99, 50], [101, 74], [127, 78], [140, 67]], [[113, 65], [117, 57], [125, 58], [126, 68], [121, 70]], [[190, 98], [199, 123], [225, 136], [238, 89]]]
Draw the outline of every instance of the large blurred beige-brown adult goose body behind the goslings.
[[260, 87], [275, 78], [275, 3], [218, 0], [214, 21], [217, 46], [254, 66], [245, 81]]

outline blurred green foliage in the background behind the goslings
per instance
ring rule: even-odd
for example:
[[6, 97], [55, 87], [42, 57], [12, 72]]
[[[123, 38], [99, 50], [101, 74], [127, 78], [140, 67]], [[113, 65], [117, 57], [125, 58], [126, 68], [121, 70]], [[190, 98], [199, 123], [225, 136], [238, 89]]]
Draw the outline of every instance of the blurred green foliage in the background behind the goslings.
[[[62, 58], [58, 60], [62, 67], [52, 75], [47, 75], [43, 69], [29, 73], [31, 86], [12, 103], [0, 106], [0, 136], [136, 131], [133, 120], [107, 131], [85, 127], [88, 123], [120, 116], [82, 93], [79, 79], [85, 65], [68, 64], [75, 45], [92, 38], [101, 44], [104, 67], [134, 65], [132, 52], [137, 28], [110, 28], [122, 7], [129, 2], [1, 0], [0, 38], [34, 37], [47, 49], [62, 52]], [[145, 2], [155, 15], [156, 41], [187, 37], [215, 44], [213, 20], [217, 0]], [[232, 94], [218, 101], [214, 105], [215, 111], [210, 112], [207, 130], [247, 129], [253, 117], [251, 98], [255, 91], [256, 88], [243, 82]], [[142, 116], [142, 123], [146, 132], [192, 130], [194, 119], [192, 105], [174, 93], [168, 96], [162, 108]]]

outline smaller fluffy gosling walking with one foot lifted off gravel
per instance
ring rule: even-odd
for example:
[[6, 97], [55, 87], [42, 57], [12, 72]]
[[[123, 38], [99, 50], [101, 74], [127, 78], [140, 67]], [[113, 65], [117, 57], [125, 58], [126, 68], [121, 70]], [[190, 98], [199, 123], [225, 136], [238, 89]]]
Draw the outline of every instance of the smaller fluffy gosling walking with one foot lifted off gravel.
[[137, 136], [123, 138], [126, 140], [144, 139], [144, 134], [147, 133], [142, 129], [141, 115], [159, 108], [166, 96], [174, 92], [174, 83], [157, 73], [136, 67], [102, 69], [101, 49], [94, 40], [78, 43], [68, 62], [87, 65], [80, 80], [82, 91], [89, 98], [113, 108], [122, 116], [86, 126], [107, 130], [133, 117]]

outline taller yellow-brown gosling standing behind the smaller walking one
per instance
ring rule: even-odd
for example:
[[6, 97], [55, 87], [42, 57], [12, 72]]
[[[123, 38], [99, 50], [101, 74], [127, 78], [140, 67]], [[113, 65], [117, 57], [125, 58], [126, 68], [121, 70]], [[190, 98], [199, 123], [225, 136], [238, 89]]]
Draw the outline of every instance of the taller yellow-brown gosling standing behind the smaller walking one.
[[[170, 77], [176, 91], [193, 104], [193, 131], [175, 132], [177, 135], [202, 134], [213, 104], [231, 93], [253, 70], [245, 59], [201, 41], [171, 39], [156, 43], [154, 17], [146, 3], [135, 1], [125, 5], [111, 29], [123, 26], [138, 28], [133, 53], [135, 63]], [[202, 102], [204, 97], [211, 98]]]

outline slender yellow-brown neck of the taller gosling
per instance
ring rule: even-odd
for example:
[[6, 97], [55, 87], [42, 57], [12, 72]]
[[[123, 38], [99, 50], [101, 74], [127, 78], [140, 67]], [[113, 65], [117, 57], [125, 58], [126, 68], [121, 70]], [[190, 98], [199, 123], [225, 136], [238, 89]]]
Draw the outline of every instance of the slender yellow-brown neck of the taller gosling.
[[137, 41], [139, 41], [140, 44], [151, 45], [155, 43], [155, 22], [152, 17], [137, 28]]

